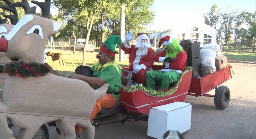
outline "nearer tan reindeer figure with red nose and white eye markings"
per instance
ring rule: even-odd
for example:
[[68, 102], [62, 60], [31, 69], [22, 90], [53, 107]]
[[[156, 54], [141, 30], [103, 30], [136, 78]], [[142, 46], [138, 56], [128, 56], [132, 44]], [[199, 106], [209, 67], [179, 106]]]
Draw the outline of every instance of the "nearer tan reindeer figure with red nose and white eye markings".
[[[26, 0], [10, 4], [22, 6], [26, 14], [0, 39], [0, 51], [11, 59], [43, 63], [47, 39], [59, 32], [63, 23], [44, 18], [49, 16], [50, 0], [31, 2], [39, 5], [43, 17], [33, 15], [35, 7], [29, 7]], [[21, 127], [19, 139], [31, 139], [42, 124], [54, 120], [61, 132], [59, 139], [75, 139], [76, 124], [83, 127], [86, 138], [93, 139], [94, 126], [89, 116], [107, 89], [108, 84], [94, 90], [81, 80], [51, 73], [26, 78], [7, 76], [0, 100], [0, 138], [14, 139], [8, 118], [14, 126]]]

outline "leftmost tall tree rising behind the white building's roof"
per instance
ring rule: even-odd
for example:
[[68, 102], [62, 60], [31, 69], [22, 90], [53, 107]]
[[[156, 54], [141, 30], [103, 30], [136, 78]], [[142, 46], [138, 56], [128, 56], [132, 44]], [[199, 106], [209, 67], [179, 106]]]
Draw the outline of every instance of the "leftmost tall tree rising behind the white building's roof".
[[221, 9], [217, 9], [218, 4], [213, 4], [210, 8], [209, 13], [207, 14], [203, 14], [204, 17], [204, 23], [207, 25], [210, 25], [211, 27], [216, 29], [216, 24], [219, 21], [219, 11], [221, 11]]

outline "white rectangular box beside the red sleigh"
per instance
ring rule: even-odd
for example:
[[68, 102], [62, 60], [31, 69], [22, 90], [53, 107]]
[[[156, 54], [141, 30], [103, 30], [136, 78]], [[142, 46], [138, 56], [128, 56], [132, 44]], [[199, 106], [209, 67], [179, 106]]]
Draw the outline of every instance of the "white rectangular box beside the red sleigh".
[[191, 105], [185, 102], [174, 102], [153, 107], [148, 114], [147, 135], [163, 139], [168, 130], [183, 133], [191, 126]]

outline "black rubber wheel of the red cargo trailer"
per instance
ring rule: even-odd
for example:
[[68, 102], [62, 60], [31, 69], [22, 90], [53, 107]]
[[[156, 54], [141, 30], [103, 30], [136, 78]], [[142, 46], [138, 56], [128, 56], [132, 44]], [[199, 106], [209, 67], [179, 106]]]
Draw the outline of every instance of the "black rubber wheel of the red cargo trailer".
[[230, 101], [230, 91], [227, 86], [219, 86], [215, 91], [214, 104], [218, 109], [228, 107]]

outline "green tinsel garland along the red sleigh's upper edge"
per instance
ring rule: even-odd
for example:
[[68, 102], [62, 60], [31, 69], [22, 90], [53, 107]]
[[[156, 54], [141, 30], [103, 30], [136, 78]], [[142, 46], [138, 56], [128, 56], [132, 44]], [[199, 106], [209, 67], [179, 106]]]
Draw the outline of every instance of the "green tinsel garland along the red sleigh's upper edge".
[[183, 75], [192, 70], [193, 68], [188, 66], [185, 68], [185, 70], [181, 73], [181, 76], [179, 77], [179, 79], [177, 80], [177, 83], [175, 84], [175, 86], [173, 86], [172, 88], [170, 88], [170, 90], [168, 91], [156, 91], [156, 90], [153, 90], [153, 89], [149, 89], [149, 88], [146, 88], [146, 87], [143, 87], [142, 84], [138, 84], [138, 85], [132, 85], [130, 87], [126, 87], [126, 86], [121, 86], [121, 89], [123, 89], [124, 91], [126, 92], [133, 92], [135, 90], [142, 90], [148, 94], [151, 94], [151, 95], [154, 95], [156, 97], [166, 97], [168, 95], [171, 95], [173, 92], [175, 92], [181, 82], [181, 79], [183, 77]]

